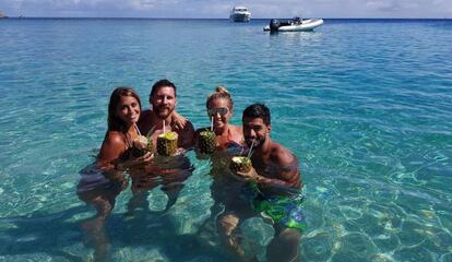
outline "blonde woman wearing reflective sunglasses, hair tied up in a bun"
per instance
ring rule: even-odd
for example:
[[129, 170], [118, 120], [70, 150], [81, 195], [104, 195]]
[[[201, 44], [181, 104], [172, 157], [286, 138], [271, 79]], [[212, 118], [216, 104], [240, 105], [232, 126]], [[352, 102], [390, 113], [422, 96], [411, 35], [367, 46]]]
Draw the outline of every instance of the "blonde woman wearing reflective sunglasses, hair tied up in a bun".
[[[219, 228], [215, 226], [218, 223], [218, 217], [228, 214], [230, 210], [247, 211], [249, 203], [239, 198], [246, 183], [233, 178], [229, 171], [229, 163], [233, 156], [247, 152], [242, 127], [230, 123], [234, 109], [230, 93], [225, 87], [216, 87], [215, 92], [207, 97], [205, 106], [216, 143], [216, 152], [209, 155], [212, 163], [210, 175], [213, 180], [211, 194], [214, 204], [211, 206], [211, 218], [206, 219], [202, 227], [209, 230], [209, 228]], [[210, 129], [211, 127], [207, 127], [195, 132], [197, 147], [199, 147], [200, 133]], [[198, 156], [206, 157], [203, 154], [198, 154]], [[219, 234], [222, 238], [226, 239], [226, 237], [223, 237], [224, 234]]]

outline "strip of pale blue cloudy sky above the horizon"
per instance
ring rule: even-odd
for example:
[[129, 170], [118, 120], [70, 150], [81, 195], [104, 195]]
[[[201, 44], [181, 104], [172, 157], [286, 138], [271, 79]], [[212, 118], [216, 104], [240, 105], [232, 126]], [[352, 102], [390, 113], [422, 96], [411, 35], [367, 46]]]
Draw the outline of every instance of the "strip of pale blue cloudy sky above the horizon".
[[33, 17], [227, 19], [245, 5], [254, 19], [452, 19], [452, 0], [0, 0], [0, 12]]

